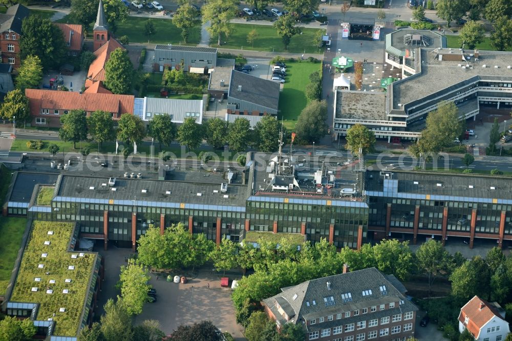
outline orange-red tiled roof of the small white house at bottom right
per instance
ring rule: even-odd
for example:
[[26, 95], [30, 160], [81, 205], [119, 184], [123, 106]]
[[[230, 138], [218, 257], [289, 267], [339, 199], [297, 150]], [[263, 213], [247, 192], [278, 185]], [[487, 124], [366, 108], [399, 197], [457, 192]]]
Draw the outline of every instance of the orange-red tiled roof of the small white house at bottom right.
[[[483, 304], [481, 309], [480, 304]], [[492, 304], [475, 296], [460, 309], [459, 321], [464, 324], [466, 317], [468, 317], [468, 322], [464, 325], [473, 336], [478, 337], [480, 329], [495, 316], [503, 319], [500, 312]]]

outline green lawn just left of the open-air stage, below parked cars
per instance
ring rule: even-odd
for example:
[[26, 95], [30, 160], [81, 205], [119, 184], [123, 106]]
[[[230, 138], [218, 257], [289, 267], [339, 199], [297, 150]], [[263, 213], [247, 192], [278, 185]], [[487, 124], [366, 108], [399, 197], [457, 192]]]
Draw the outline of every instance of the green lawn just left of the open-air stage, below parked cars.
[[[251, 25], [251, 24], [230, 24], [231, 33], [229, 37], [223, 37], [226, 44], [222, 45], [224, 49], [255, 50], [267, 52], [293, 52], [293, 53], [319, 53], [316, 44], [313, 42], [315, 33], [319, 29], [305, 28], [303, 34], [295, 35], [291, 38], [288, 50], [285, 50], [283, 40], [276, 33], [273, 26], [269, 25]], [[247, 34], [253, 29], [258, 31], [258, 38], [254, 41], [254, 47], [247, 42]], [[322, 31], [325, 31], [322, 29]], [[217, 37], [211, 37], [211, 46], [217, 46]]]

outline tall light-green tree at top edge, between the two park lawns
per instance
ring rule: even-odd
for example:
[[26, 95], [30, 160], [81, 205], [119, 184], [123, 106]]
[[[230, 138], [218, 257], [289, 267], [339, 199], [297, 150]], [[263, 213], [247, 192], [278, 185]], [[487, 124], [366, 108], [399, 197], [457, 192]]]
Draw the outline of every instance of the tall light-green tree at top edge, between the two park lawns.
[[238, 12], [237, 0], [208, 0], [201, 7], [202, 23], [210, 22], [206, 29], [210, 36], [217, 36], [217, 46], [221, 45], [222, 34], [228, 36], [230, 32], [229, 21], [234, 18]]

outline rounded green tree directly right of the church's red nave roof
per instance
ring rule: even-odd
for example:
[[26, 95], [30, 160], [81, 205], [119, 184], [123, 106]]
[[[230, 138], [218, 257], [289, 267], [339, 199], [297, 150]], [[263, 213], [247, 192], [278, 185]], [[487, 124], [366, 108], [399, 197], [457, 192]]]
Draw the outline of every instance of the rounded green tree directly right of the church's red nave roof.
[[114, 94], [130, 94], [132, 80], [133, 65], [128, 52], [121, 48], [115, 49], [105, 63], [105, 87]]

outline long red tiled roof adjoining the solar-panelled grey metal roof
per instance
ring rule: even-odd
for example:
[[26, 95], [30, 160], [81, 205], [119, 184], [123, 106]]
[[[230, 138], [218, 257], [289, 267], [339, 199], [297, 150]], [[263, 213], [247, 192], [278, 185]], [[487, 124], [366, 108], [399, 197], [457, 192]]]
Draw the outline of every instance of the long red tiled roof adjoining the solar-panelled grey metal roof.
[[109, 113], [133, 115], [134, 96], [106, 93], [83, 93], [73, 91], [55, 91], [26, 89], [30, 113], [39, 115], [41, 109], [50, 110], [84, 110], [93, 112], [102, 110]]

